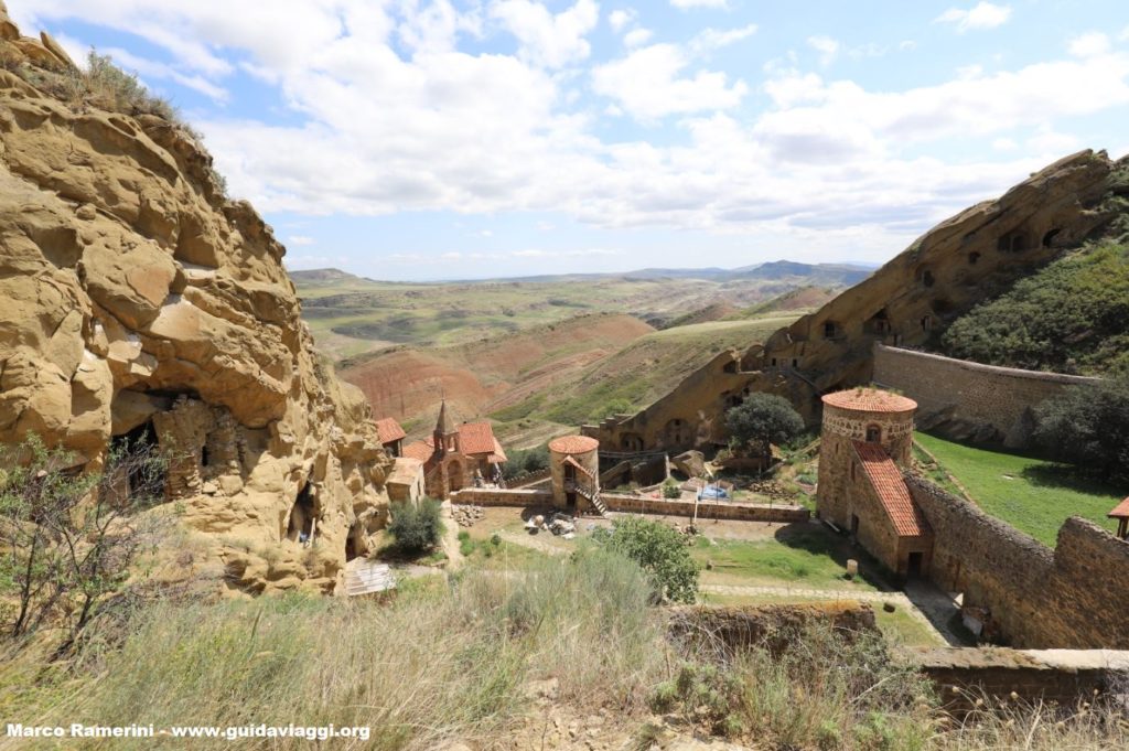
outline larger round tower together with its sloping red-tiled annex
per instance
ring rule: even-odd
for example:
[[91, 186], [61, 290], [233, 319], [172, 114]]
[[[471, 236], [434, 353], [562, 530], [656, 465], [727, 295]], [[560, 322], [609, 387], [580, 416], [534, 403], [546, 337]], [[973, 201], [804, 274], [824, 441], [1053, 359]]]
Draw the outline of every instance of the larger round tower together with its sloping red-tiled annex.
[[877, 388], [823, 396], [817, 514], [899, 576], [928, 573], [933, 531], [910, 496], [917, 402]]

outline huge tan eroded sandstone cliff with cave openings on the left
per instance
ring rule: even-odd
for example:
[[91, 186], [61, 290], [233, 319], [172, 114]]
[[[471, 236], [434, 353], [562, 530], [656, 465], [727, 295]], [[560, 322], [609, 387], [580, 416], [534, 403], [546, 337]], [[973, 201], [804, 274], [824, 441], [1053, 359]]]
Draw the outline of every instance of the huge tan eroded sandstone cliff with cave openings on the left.
[[[54, 46], [0, 3], [7, 67], [71, 64]], [[386, 516], [391, 461], [316, 359], [285, 248], [210, 164], [160, 117], [0, 69], [0, 442], [36, 433], [97, 468], [115, 440], [158, 440], [230, 586], [332, 591]]]

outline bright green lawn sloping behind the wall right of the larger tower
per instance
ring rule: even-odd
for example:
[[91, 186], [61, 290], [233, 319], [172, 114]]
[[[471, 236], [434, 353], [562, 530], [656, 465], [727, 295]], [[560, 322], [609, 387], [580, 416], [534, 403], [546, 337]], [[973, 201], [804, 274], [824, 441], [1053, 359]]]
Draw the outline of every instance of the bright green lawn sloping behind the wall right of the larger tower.
[[955, 477], [984, 512], [1054, 547], [1059, 527], [1082, 516], [1113, 531], [1105, 514], [1124, 489], [1104, 487], [1069, 468], [1029, 456], [975, 448], [922, 433], [917, 440]]

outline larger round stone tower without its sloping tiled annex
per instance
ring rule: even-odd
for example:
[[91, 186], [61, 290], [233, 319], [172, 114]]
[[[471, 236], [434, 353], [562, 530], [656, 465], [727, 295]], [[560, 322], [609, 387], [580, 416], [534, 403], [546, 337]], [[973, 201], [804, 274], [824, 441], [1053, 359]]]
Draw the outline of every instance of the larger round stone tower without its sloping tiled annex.
[[848, 497], [855, 442], [879, 444], [905, 466], [913, 445], [917, 402], [879, 388], [849, 388], [823, 396], [820, 435], [819, 516], [849, 525]]

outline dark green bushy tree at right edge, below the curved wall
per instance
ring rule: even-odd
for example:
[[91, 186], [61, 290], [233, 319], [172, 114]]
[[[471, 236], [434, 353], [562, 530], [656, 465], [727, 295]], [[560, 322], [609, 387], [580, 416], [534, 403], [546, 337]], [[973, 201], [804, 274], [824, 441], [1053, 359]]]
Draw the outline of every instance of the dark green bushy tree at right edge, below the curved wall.
[[1129, 478], [1129, 374], [1071, 386], [1035, 408], [1035, 443], [1050, 456]]

